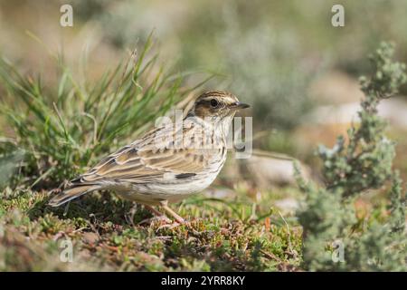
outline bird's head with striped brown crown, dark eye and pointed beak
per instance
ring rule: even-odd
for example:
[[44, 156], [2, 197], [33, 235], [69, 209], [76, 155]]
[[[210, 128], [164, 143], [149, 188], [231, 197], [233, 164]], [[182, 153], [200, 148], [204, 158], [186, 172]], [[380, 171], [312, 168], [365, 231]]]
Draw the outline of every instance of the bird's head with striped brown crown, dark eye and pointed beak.
[[249, 108], [250, 105], [239, 102], [231, 92], [210, 91], [201, 94], [191, 109], [195, 116], [204, 118], [233, 117], [236, 111]]

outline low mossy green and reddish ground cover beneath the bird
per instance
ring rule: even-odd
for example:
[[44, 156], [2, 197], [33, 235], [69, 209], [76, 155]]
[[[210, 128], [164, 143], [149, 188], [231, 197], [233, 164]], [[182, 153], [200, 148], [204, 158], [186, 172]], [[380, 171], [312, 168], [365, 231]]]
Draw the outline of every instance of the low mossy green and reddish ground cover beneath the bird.
[[[264, 198], [269, 205], [262, 208], [271, 207], [269, 194], [270, 198]], [[0, 252], [7, 253], [2, 258], [6, 271], [71, 269], [70, 263], [59, 259], [60, 244], [66, 238], [74, 247], [73, 263], [85, 270], [261, 271], [300, 263], [296, 253], [300, 252], [301, 233], [295, 222], [289, 228], [280, 217], [271, 216], [270, 227], [266, 227], [264, 218], [242, 216], [251, 206], [236, 200], [185, 200], [175, 208], [194, 218], [189, 226], [170, 228], [156, 221], [138, 225], [151, 218], [149, 213], [138, 207], [130, 215], [133, 205], [109, 194], [92, 194], [71, 202], [68, 208], [48, 207], [45, 191], [5, 189], [1, 195], [0, 222], [7, 233], [2, 238], [9, 241], [0, 246]], [[259, 216], [268, 213], [260, 209]], [[11, 240], [9, 233], [13, 233]], [[22, 242], [22, 246], [19, 240], [30, 242]], [[87, 256], [92, 257], [91, 263], [84, 258]], [[25, 258], [30, 262], [25, 263]]]

